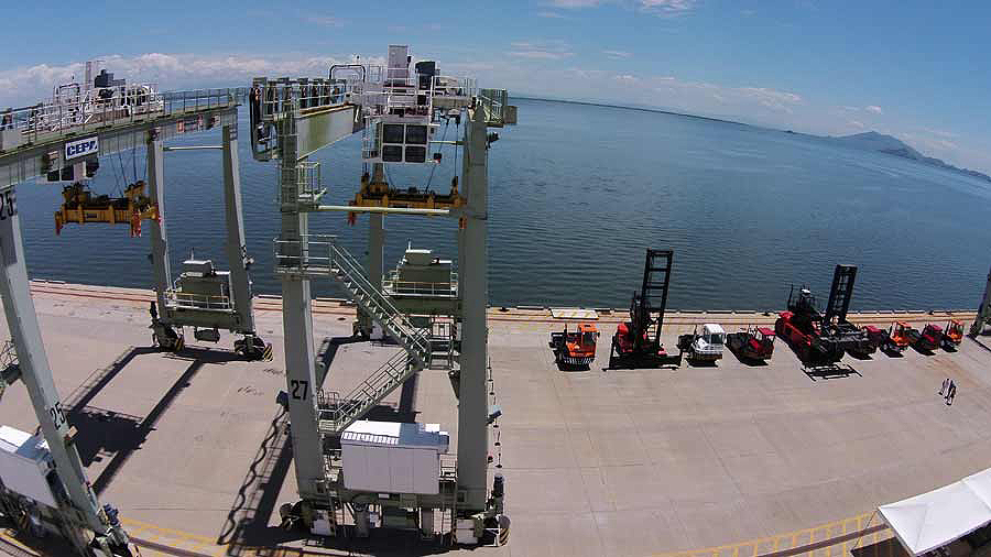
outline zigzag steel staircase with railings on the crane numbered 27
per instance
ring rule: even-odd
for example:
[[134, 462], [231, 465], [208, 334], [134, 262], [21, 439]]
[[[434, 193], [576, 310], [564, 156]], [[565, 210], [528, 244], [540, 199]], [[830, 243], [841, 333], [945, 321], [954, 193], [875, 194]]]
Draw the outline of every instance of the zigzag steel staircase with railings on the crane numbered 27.
[[309, 234], [302, 240], [276, 240], [275, 262], [276, 273], [334, 277], [348, 291], [348, 297], [403, 348], [350, 393], [322, 405], [325, 406], [320, 408], [322, 433], [340, 435], [428, 365], [429, 331], [414, 327], [388, 294], [374, 288], [361, 264], [337, 243], [336, 237]]

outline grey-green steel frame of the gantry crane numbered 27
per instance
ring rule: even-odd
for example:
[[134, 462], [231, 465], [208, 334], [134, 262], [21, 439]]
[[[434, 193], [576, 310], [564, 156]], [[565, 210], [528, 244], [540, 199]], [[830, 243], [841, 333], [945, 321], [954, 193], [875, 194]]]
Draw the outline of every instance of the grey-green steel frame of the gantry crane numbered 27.
[[[313, 516], [336, 517], [339, 506], [358, 495], [362, 501], [383, 506], [395, 505], [398, 500], [404, 501], [405, 506], [421, 509], [453, 511], [456, 506], [459, 516], [472, 518], [476, 539], [482, 531], [482, 515], [491, 512], [487, 488], [487, 151], [497, 139], [489, 135], [488, 127], [504, 123], [507, 95], [494, 89], [478, 92], [472, 80], [437, 76], [433, 63], [424, 66], [427, 69], [424, 74], [410, 72], [406, 47], [393, 45], [385, 72], [352, 64], [333, 67], [329, 79], [257, 78], [249, 94], [252, 153], [260, 161], [279, 160], [281, 168], [282, 227], [275, 240], [275, 271], [282, 276], [286, 403], [292, 422], [296, 484], [304, 505], [300, 517], [309, 527], [314, 527]], [[326, 189], [319, 182], [318, 165], [307, 160], [314, 151], [361, 131], [364, 133], [361, 154], [372, 165], [371, 181], [384, 183], [385, 163], [434, 164], [425, 156], [431, 131], [437, 119], [455, 117], [466, 121], [460, 142], [464, 152], [460, 206], [418, 209], [320, 204]], [[311, 212], [322, 210], [370, 214], [367, 269], [335, 238], [309, 233]], [[456, 487], [449, 492], [442, 488], [438, 496], [398, 493], [393, 500], [383, 499], [379, 493], [348, 491], [346, 483], [340, 484], [327, 471], [328, 461], [334, 469], [334, 455], [325, 446], [333, 446], [349, 425], [431, 361], [429, 331], [413, 326], [396, 308], [392, 294], [382, 287], [386, 212], [458, 219], [460, 358], [450, 371], [459, 396], [457, 477]], [[348, 291], [358, 306], [359, 330], [377, 328], [402, 348], [345, 396], [324, 392], [316, 382], [323, 374], [315, 369], [309, 282], [324, 276]], [[449, 298], [450, 292], [445, 295]], [[500, 485], [499, 509], [501, 496]], [[356, 516], [367, 513], [363, 507], [352, 511]], [[360, 532], [363, 518], [356, 520]]]

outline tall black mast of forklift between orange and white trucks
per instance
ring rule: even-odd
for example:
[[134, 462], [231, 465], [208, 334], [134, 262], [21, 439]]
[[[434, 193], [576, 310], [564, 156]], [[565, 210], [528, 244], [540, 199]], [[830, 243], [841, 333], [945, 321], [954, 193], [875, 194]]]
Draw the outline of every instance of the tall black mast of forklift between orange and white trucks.
[[[639, 293], [633, 293], [633, 304], [630, 307], [635, 351], [644, 348], [644, 336], [649, 337], [649, 341], [653, 345], [661, 342], [661, 327], [664, 325], [664, 312], [667, 308], [667, 286], [671, 278], [673, 254], [672, 250], [646, 250], [643, 285]], [[654, 327], [653, 330], [651, 330], [651, 326]]]

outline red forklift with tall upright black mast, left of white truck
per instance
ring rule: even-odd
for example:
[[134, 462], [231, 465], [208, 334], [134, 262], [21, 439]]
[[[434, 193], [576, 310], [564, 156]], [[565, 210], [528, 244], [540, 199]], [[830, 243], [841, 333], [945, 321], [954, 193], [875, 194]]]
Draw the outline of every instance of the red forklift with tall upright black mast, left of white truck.
[[630, 320], [621, 323], [612, 337], [608, 369], [682, 365], [682, 352], [669, 354], [661, 343], [673, 254], [672, 250], [646, 250], [643, 284], [633, 293]]

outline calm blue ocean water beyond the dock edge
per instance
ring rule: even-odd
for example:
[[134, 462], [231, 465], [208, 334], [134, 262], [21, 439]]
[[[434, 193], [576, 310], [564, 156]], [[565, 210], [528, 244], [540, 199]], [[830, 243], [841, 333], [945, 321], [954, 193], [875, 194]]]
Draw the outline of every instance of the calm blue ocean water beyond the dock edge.
[[[489, 295], [492, 305], [628, 307], [644, 248], [674, 249], [669, 307], [771, 309], [792, 283], [825, 298], [836, 263], [860, 266], [857, 309], [973, 308], [991, 264], [991, 184], [913, 161], [802, 135], [623, 108], [520, 99], [520, 124], [498, 130], [489, 152]], [[247, 111], [242, 111], [247, 114]], [[242, 117], [244, 117], [242, 114]], [[455, 127], [446, 132], [454, 139]], [[275, 163], [251, 159], [241, 127], [241, 183], [255, 293], [279, 293]], [[217, 131], [171, 144], [218, 144]], [[401, 185], [446, 192], [456, 161], [390, 168]], [[132, 161], [133, 159], [133, 161]], [[328, 203], [353, 196], [360, 138], [318, 153]], [[144, 172], [139, 151], [101, 160], [96, 193]], [[219, 152], [165, 155], [172, 263], [190, 250], [222, 269]], [[128, 228], [69, 225], [55, 236], [62, 186], [18, 190], [32, 277], [150, 287], [148, 237]], [[311, 217], [359, 258], [367, 217]], [[388, 217], [386, 263], [407, 242], [455, 256], [446, 218]], [[317, 295], [339, 296], [315, 283]], [[825, 299], [824, 299], [825, 302]]]

